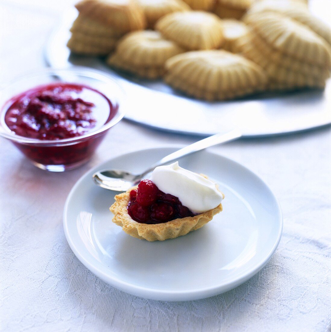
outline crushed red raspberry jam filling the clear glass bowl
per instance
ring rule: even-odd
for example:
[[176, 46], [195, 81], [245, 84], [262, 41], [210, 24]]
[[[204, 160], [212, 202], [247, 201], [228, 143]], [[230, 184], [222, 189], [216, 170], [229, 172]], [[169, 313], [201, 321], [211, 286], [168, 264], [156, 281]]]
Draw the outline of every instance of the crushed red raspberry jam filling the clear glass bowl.
[[[63, 165], [59, 170], [64, 170], [92, 156], [106, 130], [93, 135], [92, 131], [110, 122], [118, 107], [91, 87], [57, 82], [11, 98], [5, 105], [4, 122], [15, 135], [36, 140], [13, 143], [38, 167], [51, 170], [49, 165]], [[60, 141], [63, 139], [74, 141]]]

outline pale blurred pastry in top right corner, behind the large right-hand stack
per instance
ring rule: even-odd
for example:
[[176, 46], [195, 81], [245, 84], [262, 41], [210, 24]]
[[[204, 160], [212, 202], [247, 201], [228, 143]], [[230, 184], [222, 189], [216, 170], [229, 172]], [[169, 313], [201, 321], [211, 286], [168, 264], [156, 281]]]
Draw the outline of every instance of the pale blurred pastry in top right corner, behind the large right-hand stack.
[[251, 8], [246, 13], [244, 20], [248, 19], [249, 15], [256, 13], [260, 13], [260, 15], [264, 15], [264, 13], [279, 13], [289, 17], [299, 23], [302, 23], [303, 25], [306, 25], [317, 35], [331, 44], [331, 28], [320, 19], [312, 15], [308, 10], [307, 5], [303, 2], [298, 0], [258, 1], [252, 4]]

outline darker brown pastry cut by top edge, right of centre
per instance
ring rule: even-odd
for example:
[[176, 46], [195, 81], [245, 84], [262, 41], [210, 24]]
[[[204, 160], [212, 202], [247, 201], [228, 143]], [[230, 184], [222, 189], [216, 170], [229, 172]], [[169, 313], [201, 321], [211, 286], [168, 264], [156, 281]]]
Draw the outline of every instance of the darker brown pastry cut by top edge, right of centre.
[[237, 19], [246, 13], [253, 0], [216, 0], [213, 12], [222, 19]]

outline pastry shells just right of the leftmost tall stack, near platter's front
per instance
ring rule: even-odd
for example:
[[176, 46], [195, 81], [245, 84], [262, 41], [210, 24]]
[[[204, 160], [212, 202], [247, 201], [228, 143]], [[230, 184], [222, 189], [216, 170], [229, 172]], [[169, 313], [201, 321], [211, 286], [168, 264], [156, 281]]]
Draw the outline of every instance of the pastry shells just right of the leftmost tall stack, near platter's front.
[[157, 31], [137, 31], [126, 35], [107, 59], [110, 66], [141, 77], [158, 78], [165, 72], [165, 62], [185, 50], [164, 39]]

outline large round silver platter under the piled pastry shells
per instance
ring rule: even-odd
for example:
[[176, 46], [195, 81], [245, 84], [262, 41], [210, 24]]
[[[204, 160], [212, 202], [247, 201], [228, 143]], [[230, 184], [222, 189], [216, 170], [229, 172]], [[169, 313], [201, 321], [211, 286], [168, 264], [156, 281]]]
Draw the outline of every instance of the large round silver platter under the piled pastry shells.
[[[323, 2], [314, 12], [325, 12], [325, 5]], [[331, 124], [330, 79], [324, 90], [264, 93], [225, 102], [196, 100], [172, 90], [162, 80], [138, 79], [112, 70], [102, 58], [71, 54], [66, 43], [76, 16], [74, 9], [64, 13], [62, 22], [45, 45], [46, 62], [54, 68], [93, 67], [116, 78], [128, 97], [125, 115], [128, 120], [202, 136], [236, 128], [243, 137], [286, 134]]]

